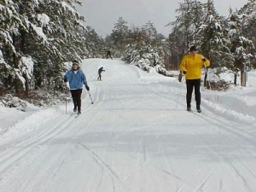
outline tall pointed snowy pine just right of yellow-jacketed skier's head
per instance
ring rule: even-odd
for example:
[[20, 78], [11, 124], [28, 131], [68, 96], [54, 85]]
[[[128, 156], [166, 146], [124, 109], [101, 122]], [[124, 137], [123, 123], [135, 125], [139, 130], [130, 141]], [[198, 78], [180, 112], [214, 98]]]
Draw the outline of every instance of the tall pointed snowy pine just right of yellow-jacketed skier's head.
[[230, 37], [225, 30], [224, 18], [214, 8], [212, 0], [202, 7], [201, 23], [193, 35], [192, 44], [200, 47], [201, 53], [211, 60], [211, 67], [233, 67], [234, 58], [230, 53]]

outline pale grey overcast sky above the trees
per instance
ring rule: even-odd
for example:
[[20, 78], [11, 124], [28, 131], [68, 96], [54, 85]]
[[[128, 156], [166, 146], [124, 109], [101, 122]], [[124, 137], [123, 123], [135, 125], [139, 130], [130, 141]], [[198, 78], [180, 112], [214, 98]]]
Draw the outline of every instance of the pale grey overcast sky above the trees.
[[[183, 0], [81, 0], [80, 15], [85, 17], [86, 26], [92, 26], [103, 38], [110, 34], [119, 17], [129, 26], [143, 26], [150, 20], [157, 31], [167, 36], [172, 30], [166, 26], [175, 20], [178, 3]], [[202, 3], [207, 0], [201, 0]], [[227, 16], [230, 7], [240, 9], [248, 0], [215, 0], [219, 15]]]

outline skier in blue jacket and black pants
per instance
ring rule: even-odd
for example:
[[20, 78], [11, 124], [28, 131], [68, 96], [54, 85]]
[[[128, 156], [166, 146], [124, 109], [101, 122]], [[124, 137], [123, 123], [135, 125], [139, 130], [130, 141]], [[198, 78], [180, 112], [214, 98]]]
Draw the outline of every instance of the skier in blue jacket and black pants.
[[69, 90], [73, 98], [73, 112], [81, 113], [81, 95], [83, 90], [83, 85], [85, 85], [86, 90], [90, 90], [85, 75], [79, 67], [78, 61], [73, 61], [72, 68], [67, 71], [64, 75], [64, 82], [69, 83]]

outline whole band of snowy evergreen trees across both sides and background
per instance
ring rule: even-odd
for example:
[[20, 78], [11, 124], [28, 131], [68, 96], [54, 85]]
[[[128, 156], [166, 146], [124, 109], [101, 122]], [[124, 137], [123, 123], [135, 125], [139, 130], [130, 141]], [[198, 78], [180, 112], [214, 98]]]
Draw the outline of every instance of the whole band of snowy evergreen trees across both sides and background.
[[255, 0], [240, 10], [230, 9], [228, 17], [218, 15], [212, 0], [184, 0], [176, 20], [166, 25], [172, 26], [167, 38], [150, 20], [129, 26], [122, 17], [102, 38], [90, 26], [84, 27], [84, 17], [76, 10], [80, 5], [78, 0], [0, 1], [1, 92], [62, 90], [65, 62], [103, 57], [109, 48], [114, 57], [165, 75], [177, 69], [191, 45], [210, 59], [211, 67], [256, 67]]

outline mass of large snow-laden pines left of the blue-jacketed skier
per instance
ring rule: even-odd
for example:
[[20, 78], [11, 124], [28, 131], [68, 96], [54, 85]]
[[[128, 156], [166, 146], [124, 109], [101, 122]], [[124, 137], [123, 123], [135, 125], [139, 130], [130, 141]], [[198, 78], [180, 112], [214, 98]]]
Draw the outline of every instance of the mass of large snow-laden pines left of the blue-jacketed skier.
[[[16, 93], [34, 75], [37, 87], [46, 81], [62, 84], [63, 61], [79, 59], [85, 52], [85, 38], [78, 32], [84, 29], [77, 0], [6, 0], [0, 2], [0, 38], [5, 65], [3, 82]], [[24, 57], [34, 61], [34, 73], [24, 73]], [[26, 60], [27, 61], [27, 60]], [[29, 62], [31, 63], [31, 62]], [[24, 66], [24, 65], [23, 65]], [[26, 79], [25, 81], [22, 80]], [[20, 84], [20, 85], [19, 85]]]

